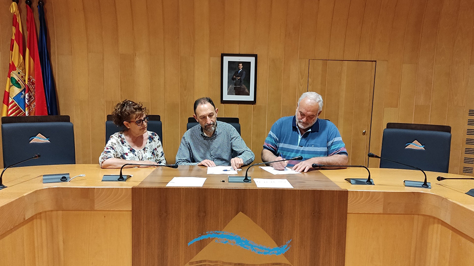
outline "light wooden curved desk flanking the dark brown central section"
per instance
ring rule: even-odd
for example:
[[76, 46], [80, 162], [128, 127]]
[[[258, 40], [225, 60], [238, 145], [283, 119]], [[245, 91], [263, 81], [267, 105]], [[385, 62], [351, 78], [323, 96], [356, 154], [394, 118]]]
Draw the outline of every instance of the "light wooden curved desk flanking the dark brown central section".
[[[0, 265], [131, 265], [132, 187], [153, 171], [162, 186], [174, 176], [201, 171], [196, 169], [200, 168], [180, 167], [178, 173], [165, 168], [127, 169], [133, 174], [127, 182], [100, 182], [104, 174], [118, 171], [97, 165], [9, 169], [4, 175], [8, 188], [0, 190]], [[262, 172], [249, 171], [254, 178], [273, 177]], [[86, 177], [42, 184], [43, 174], [54, 173]], [[438, 173], [427, 172], [431, 190], [407, 188], [404, 179], [421, 180], [423, 174], [371, 169], [375, 186], [353, 186], [344, 178], [365, 177], [364, 169], [321, 171], [333, 183], [315, 182], [317, 173], [287, 178], [295, 189], [307, 189], [305, 183], [311, 181], [324, 189], [348, 190], [346, 265], [471, 264], [474, 198], [464, 192], [474, 188], [474, 182], [439, 182]], [[222, 179], [208, 176], [205, 186], [249, 186], [221, 183]]]

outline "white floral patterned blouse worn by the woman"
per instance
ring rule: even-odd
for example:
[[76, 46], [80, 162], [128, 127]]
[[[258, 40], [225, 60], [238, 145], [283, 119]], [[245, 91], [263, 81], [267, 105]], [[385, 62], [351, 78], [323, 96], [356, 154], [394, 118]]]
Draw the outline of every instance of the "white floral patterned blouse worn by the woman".
[[110, 139], [105, 145], [104, 151], [100, 154], [99, 165], [108, 158], [120, 158], [135, 161], [152, 161], [158, 164], [166, 164], [164, 158], [163, 146], [161, 145], [160, 137], [155, 132], [148, 132], [148, 140], [145, 147], [136, 150], [130, 146], [125, 140], [123, 131], [117, 132], [110, 136]]

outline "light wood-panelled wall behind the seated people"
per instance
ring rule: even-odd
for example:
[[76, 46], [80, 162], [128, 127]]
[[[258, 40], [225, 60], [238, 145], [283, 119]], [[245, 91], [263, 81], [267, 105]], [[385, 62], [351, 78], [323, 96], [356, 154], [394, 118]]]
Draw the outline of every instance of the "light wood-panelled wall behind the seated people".
[[[4, 75], [10, 3], [0, 4]], [[19, 6], [26, 35], [25, 3]], [[371, 151], [380, 151], [386, 122], [450, 125], [450, 172], [462, 171], [463, 118], [474, 108], [466, 100], [473, 0], [49, 0], [45, 11], [59, 109], [75, 125], [77, 163], [97, 162], [104, 118], [124, 98], [161, 115], [172, 163], [201, 96], [214, 99], [220, 116], [241, 119], [244, 140], [260, 162], [273, 122], [292, 115], [307, 88], [331, 85], [311, 73], [320, 68], [329, 71], [324, 77], [338, 75], [332, 66], [308, 66], [319, 59], [377, 61], [377, 73], [383, 71], [374, 81]], [[258, 54], [255, 105], [219, 102], [223, 52]], [[318, 92], [330, 99], [338, 90]], [[325, 105], [325, 115], [335, 110], [340, 103]]]

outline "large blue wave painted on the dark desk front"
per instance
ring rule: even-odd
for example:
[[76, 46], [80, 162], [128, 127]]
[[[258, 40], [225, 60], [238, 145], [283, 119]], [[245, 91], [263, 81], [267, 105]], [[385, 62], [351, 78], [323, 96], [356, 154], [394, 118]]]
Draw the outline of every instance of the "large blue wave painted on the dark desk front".
[[222, 244], [228, 244], [232, 246], [240, 246], [244, 249], [250, 250], [254, 253], [257, 254], [262, 254], [262, 255], [281, 255], [288, 251], [288, 249], [291, 247], [291, 245], [288, 245], [289, 242], [291, 242], [291, 239], [286, 241], [286, 244], [279, 246], [279, 247], [266, 247], [263, 245], [256, 244], [253, 241], [250, 241], [246, 239], [245, 237], [241, 237], [239, 235], [225, 232], [225, 231], [210, 231], [206, 232], [203, 235], [200, 235], [199, 237], [196, 237], [195, 239], [191, 240], [188, 243], [188, 246], [193, 244], [194, 242], [203, 240], [203, 239], [209, 239], [209, 238], [216, 238], [217, 243], [222, 243]]

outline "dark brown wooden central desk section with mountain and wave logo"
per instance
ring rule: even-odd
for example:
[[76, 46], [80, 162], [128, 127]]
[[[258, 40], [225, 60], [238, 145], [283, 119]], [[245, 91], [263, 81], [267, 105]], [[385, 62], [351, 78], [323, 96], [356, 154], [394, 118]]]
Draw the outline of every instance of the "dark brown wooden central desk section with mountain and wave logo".
[[[207, 180], [165, 187], [174, 176]], [[294, 189], [228, 183], [199, 167], [154, 171], [132, 188], [132, 265], [344, 265], [347, 190], [316, 171], [282, 178]]]

